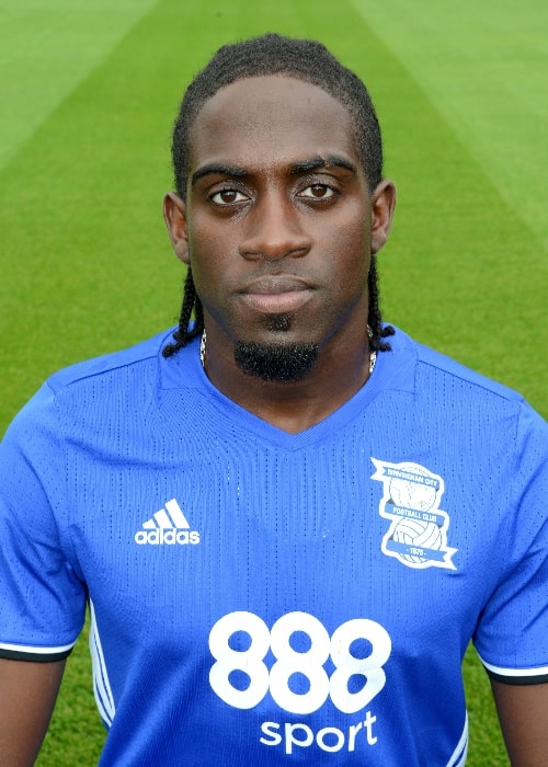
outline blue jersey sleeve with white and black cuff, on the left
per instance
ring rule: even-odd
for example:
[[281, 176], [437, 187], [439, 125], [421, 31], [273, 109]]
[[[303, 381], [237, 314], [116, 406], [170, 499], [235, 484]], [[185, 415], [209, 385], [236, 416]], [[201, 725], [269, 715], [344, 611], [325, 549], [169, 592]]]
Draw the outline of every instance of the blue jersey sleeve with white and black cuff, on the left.
[[85, 588], [60, 534], [66, 466], [47, 386], [0, 443], [0, 657], [66, 657], [81, 631]]

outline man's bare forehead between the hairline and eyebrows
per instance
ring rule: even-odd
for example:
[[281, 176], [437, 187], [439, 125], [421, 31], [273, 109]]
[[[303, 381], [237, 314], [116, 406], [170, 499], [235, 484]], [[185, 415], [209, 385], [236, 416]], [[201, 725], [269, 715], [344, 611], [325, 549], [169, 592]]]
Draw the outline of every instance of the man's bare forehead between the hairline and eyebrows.
[[190, 138], [191, 172], [205, 162], [267, 167], [323, 154], [346, 154], [361, 165], [346, 107], [318, 85], [279, 75], [218, 90]]

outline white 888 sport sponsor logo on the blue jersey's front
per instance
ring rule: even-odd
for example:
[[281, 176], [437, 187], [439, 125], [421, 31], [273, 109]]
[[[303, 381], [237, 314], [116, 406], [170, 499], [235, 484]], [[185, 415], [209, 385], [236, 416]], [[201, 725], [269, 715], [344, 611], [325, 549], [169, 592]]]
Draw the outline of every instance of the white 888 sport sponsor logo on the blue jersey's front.
[[[355, 618], [330, 636], [308, 613], [288, 613], [269, 629], [253, 613], [222, 616], [209, 633], [215, 659], [209, 672], [214, 692], [228, 706], [252, 709], [267, 694], [290, 721], [266, 721], [260, 742], [293, 754], [317, 746], [327, 753], [374, 745], [376, 717], [365, 711], [386, 683], [384, 666], [391, 652], [387, 630]], [[315, 731], [297, 717], [312, 714], [328, 701], [349, 718], [349, 725]], [[359, 713], [358, 713], [359, 712]]]

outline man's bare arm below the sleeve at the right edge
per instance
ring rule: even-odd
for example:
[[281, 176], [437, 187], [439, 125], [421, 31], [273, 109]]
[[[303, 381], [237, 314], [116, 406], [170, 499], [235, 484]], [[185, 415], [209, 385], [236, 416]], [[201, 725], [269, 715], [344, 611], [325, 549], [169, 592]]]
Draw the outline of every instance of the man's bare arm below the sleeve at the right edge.
[[512, 767], [547, 767], [548, 683], [491, 686]]

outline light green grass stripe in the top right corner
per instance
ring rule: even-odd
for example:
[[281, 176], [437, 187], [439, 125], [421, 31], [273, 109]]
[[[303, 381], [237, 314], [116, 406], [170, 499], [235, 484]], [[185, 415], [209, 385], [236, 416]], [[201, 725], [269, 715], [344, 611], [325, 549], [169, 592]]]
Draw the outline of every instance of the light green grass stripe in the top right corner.
[[353, 4], [548, 255], [548, 3]]

